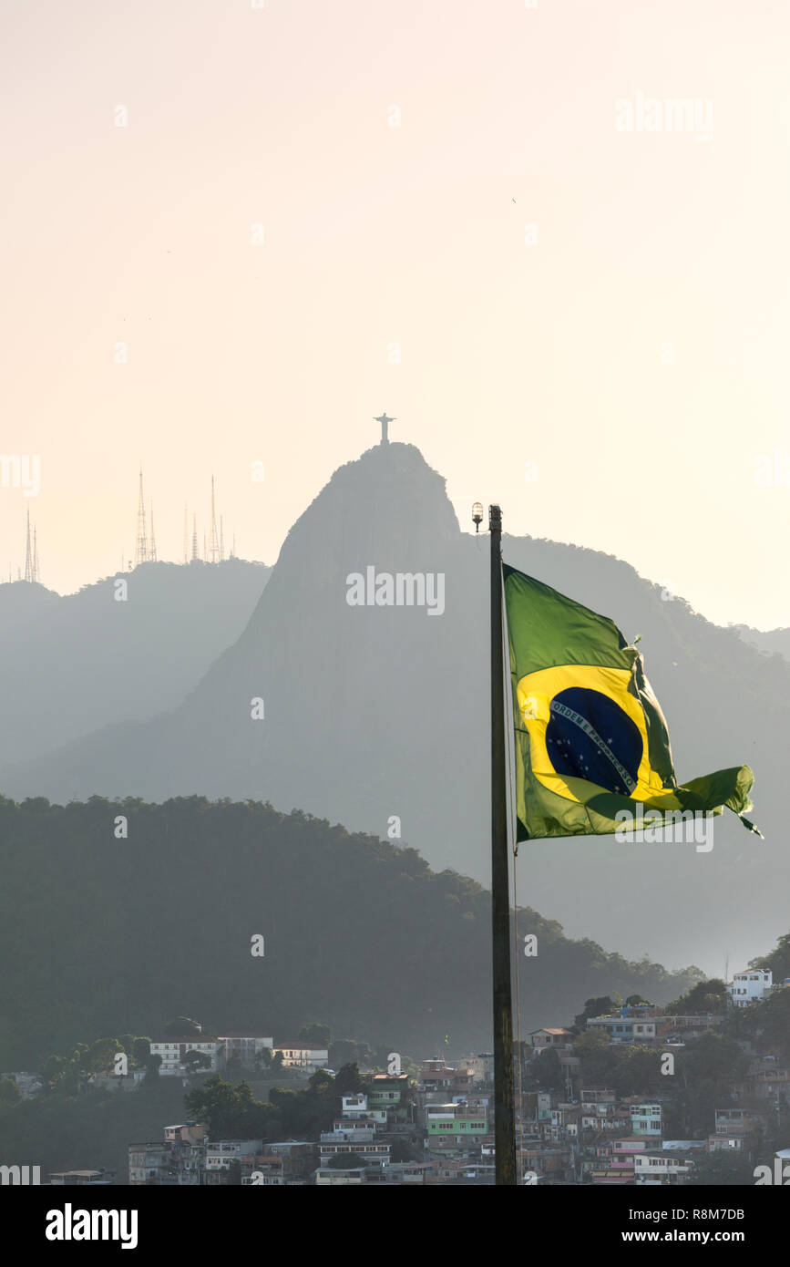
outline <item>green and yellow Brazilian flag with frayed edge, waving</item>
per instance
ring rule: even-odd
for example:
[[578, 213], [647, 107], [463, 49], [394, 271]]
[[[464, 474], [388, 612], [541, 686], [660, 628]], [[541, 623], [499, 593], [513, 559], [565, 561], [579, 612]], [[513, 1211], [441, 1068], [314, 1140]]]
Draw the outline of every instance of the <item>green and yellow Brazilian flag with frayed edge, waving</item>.
[[[601, 835], [677, 811], [722, 813], [749, 830], [748, 765], [682, 786], [641, 654], [606, 616], [503, 568], [515, 726], [517, 840]], [[672, 821], [672, 820], [668, 820]]]

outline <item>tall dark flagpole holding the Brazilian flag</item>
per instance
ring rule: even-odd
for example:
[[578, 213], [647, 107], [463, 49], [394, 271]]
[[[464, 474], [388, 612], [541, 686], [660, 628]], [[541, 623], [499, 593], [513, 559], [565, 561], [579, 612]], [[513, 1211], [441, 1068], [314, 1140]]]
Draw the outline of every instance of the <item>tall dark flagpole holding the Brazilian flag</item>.
[[491, 532], [491, 941], [494, 955], [494, 1144], [496, 1183], [515, 1187], [510, 882], [505, 780], [501, 509], [489, 507]]

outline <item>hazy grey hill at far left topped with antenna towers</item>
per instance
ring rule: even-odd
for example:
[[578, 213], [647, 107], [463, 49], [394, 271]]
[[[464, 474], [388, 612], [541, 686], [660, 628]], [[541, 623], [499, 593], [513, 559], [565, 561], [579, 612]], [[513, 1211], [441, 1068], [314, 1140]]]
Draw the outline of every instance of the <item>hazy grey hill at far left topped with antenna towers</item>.
[[0, 763], [175, 708], [237, 637], [270, 571], [243, 559], [144, 563], [63, 597], [1, 584]]

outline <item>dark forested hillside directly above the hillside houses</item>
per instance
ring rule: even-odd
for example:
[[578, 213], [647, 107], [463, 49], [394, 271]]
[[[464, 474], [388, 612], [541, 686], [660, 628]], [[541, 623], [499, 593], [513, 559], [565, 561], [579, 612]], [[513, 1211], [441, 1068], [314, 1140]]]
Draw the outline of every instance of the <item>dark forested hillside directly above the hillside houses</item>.
[[[177, 1014], [277, 1041], [320, 1017], [347, 1060], [490, 1043], [490, 895], [413, 849], [260, 802], [0, 798], [0, 1071]], [[604, 990], [662, 1001], [701, 978], [522, 910], [525, 933], [522, 1033]]]

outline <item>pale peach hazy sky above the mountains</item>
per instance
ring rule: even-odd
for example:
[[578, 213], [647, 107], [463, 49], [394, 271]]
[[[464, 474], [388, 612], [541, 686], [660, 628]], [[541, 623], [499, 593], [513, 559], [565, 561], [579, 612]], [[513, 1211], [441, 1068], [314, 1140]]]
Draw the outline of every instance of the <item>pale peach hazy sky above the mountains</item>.
[[141, 459], [161, 557], [214, 473], [273, 563], [386, 409], [463, 527], [790, 625], [786, 0], [0, 11], [0, 449], [42, 480], [0, 573], [28, 506], [46, 584], [115, 571]]

